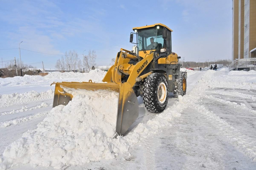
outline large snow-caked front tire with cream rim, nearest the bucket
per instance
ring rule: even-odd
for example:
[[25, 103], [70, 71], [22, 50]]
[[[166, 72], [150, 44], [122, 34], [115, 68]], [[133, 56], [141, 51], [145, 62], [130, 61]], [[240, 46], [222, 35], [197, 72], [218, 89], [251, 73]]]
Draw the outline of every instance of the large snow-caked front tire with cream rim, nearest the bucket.
[[160, 113], [168, 102], [169, 88], [161, 73], [150, 74], [143, 84], [143, 103], [149, 112]]

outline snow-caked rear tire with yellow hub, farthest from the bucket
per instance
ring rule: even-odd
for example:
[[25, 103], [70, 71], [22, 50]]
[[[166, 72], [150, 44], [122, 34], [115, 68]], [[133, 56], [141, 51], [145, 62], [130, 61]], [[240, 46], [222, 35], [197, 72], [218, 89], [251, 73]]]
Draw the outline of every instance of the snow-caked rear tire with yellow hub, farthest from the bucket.
[[187, 91], [187, 79], [185, 73], [180, 71], [179, 76], [175, 79], [175, 91], [173, 92], [174, 97], [178, 98], [179, 95], [184, 96]]

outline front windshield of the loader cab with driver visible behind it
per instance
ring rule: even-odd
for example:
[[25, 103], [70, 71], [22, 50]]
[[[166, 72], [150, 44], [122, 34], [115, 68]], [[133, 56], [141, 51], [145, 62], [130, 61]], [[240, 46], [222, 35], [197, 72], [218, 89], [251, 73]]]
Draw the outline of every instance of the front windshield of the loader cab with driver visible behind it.
[[163, 48], [163, 29], [151, 28], [138, 31], [139, 51], [158, 50]]

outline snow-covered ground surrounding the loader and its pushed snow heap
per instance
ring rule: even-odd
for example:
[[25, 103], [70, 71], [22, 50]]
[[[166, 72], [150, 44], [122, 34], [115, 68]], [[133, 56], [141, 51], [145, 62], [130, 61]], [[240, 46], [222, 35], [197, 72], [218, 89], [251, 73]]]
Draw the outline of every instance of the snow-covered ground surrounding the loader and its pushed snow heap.
[[[27, 130], [36, 129], [38, 123], [53, 114], [50, 110], [54, 86], [49, 84], [89, 79], [97, 82], [103, 76], [98, 71], [0, 79], [0, 155]], [[99, 161], [68, 163], [61, 169], [256, 169], [255, 100], [256, 71], [188, 72], [187, 95], [176, 99], [169, 94], [163, 113], [147, 112], [138, 97], [139, 118], [121, 138], [128, 151], [120, 151], [110, 160], [103, 156]], [[135, 138], [137, 134], [139, 137]], [[106, 137], [106, 143], [116, 145], [117, 141]], [[72, 154], [77, 154], [76, 150]], [[0, 159], [0, 169], [4, 169], [1, 161], [6, 163], [6, 159]], [[54, 168], [28, 163], [9, 169]]]

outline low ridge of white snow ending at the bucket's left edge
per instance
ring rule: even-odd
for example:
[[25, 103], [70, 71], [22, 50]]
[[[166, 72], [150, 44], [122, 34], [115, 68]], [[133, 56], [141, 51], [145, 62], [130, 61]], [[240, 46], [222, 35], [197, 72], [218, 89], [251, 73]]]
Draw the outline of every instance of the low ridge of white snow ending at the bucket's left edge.
[[18, 103], [26, 103], [35, 100], [43, 100], [53, 98], [54, 92], [50, 89], [46, 92], [26, 92], [26, 93], [12, 93], [0, 95], [0, 108], [16, 105]]

